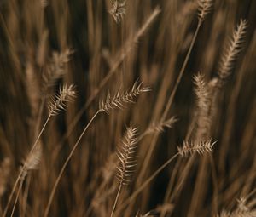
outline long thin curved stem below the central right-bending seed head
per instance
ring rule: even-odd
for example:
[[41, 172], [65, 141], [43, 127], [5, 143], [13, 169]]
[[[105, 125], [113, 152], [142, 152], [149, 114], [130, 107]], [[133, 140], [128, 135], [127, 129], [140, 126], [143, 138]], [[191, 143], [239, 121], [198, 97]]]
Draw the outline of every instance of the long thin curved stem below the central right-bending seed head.
[[45, 208], [45, 212], [44, 212], [44, 217], [48, 216], [49, 214], [49, 208], [50, 208], [50, 204], [52, 203], [52, 200], [55, 196], [55, 191], [57, 189], [57, 186], [61, 180], [61, 176], [64, 173], [65, 168], [67, 167], [67, 163], [69, 163], [71, 157], [73, 156], [73, 152], [76, 150], [76, 148], [79, 146], [79, 142], [80, 140], [82, 140], [84, 133], [86, 132], [86, 130], [90, 127], [90, 124], [93, 122], [93, 120], [96, 118], [96, 116], [100, 113], [100, 111], [96, 111], [95, 115], [93, 117], [91, 117], [90, 122], [87, 123], [86, 127], [84, 128], [82, 134], [80, 134], [79, 139], [77, 140], [77, 142], [75, 143], [75, 145], [73, 146], [73, 149], [70, 151], [65, 163], [63, 164], [62, 168], [61, 168], [61, 172], [59, 173], [57, 179], [55, 180], [55, 184], [53, 186], [52, 191], [50, 192], [50, 196], [49, 196], [49, 201], [47, 203], [47, 206]]

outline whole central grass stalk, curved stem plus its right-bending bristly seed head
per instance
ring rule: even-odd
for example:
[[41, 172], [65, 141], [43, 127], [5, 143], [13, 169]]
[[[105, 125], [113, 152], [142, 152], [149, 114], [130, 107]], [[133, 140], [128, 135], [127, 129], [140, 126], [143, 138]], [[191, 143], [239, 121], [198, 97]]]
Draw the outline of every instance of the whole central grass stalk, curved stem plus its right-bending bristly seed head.
[[90, 122], [87, 123], [87, 125], [84, 127], [83, 132], [79, 135], [79, 139], [76, 141], [75, 145], [73, 146], [72, 150], [70, 151], [65, 163], [61, 167], [61, 171], [57, 176], [57, 179], [55, 180], [55, 184], [53, 186], [52, 191], [50, 192], [49, 195], [49, 201], [46, 205], [45, 212], [44, 212], [44, 217], [48, 216], [49, 214], [49, 208], [52, 203], [52, 200], [55, 195], [55, 191], [57, 189], [57, 186], [61, 180], [61, 176], [64, 173], [65, 168], [67, 167], [67, 163], [69, 163], [71, 157], [73, 156], [74, 151], [76, 148], [79, 146], [80, 140], [82, 140], [85, 132], [87, 129], [90, 127], [90, 124], [94, 121], [94, 119], [97, 117], [98, 114], [102, 112], [108, 113], [109, 111], [113, 109], [119, 109], [119, 108], [124, 108], [125, 104], [127, 103], [132, 103], [134, 100], [137, 98], [137, 96], [141, 93], [148, 92], [148, 88], [143, 88], [142, 83], [135, 82], [132, 86], [132, 88], [125, 93], [121, 94], [121, 91], [117, 92], [117, 94], [114, 94], [113, 97], [111, 97], [110, 94], [108, 94], [106, 100], [102, 100], [99, 104], [99, 109], [96, 111], [93, 117], [91, 117]]

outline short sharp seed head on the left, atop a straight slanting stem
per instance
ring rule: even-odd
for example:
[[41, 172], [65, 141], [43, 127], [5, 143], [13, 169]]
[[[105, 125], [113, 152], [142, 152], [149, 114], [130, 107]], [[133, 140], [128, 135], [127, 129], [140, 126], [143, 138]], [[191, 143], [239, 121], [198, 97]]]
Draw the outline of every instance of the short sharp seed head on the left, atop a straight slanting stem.
[[54, 99], [49, 102], [49, 116], [55, 116], [59, 111], [66, 110], [67, 102], [73, 100], [74, 97], [76, 97], [76, 92], [73, 84], [68, 88], [66, 84], [63, 85], [62, 89], [60, 89], [60, 93], [56, 94]]

